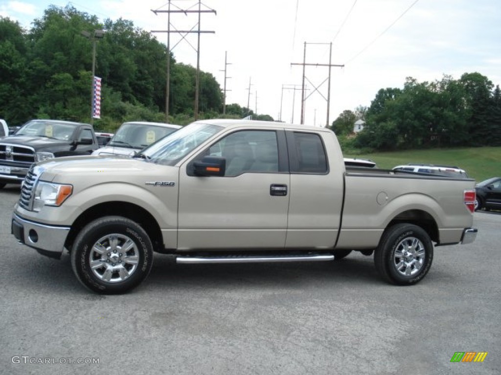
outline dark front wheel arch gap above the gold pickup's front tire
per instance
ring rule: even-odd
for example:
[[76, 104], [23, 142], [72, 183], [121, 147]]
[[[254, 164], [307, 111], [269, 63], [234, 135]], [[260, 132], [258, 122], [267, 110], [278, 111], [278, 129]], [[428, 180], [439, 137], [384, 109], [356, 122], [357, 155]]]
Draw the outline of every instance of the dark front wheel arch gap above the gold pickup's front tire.
[[150, 237], [154, 251], [162, 251], [162, 231], [153, 215], [143, 207], [124, 201], [108, 201], [87, 208], [73, 222], [66, 237], [65, 247], [71, 251], [73, 242], [82, 228], [89, 222], [103, 216], [123, 216], [137, 222]]

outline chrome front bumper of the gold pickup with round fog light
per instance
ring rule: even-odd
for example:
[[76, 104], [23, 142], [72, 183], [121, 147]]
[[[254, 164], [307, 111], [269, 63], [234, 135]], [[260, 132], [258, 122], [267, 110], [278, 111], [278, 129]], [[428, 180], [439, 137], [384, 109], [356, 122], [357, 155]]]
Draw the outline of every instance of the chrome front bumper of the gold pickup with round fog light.
[[59, 259], [70, 231], [69, 226], [53, 226], [12, 215], [11, 233], [20, 243], [35, 248], [39, 253]]

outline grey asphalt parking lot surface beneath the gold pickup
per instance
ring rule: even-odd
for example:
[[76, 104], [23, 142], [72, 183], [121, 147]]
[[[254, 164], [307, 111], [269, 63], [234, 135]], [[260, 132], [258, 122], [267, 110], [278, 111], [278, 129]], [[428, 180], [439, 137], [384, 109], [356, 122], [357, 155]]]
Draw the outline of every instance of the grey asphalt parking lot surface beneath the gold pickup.
[[[16, 242], [18, 196], [0, 190], [2, 374], [499, 374], [501, 212], [475, 212], [476, 241], [435, 248], [414, 286], [383, 282], [359, 253], [224, 265], [155, 254], [138, 288], [103, 296], [67, 254]], [[468, 351], [487, 355], [451, 362]]]

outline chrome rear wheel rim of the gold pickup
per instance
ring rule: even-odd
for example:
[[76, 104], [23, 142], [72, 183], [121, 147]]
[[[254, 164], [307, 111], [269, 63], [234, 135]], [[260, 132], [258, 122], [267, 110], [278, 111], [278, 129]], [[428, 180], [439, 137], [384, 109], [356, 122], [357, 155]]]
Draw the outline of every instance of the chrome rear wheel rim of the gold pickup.
[[401, 275], [412, 276], [423, 266], [425, 256], [426, 250], [423, 242], [415, 237], [407, 237], [397, 244], [393, 264]]

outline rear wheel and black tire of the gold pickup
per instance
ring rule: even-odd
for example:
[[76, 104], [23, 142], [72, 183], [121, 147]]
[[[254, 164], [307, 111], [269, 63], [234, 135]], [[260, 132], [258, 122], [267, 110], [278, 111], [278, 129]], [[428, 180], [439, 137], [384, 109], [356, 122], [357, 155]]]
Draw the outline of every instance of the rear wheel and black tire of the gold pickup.
[[414, 224], [402, 223], [387, 228], [374, 252], [379, 274], [396, 285], [419, 282], [428, 273], [432, 261], [430, 236]]

